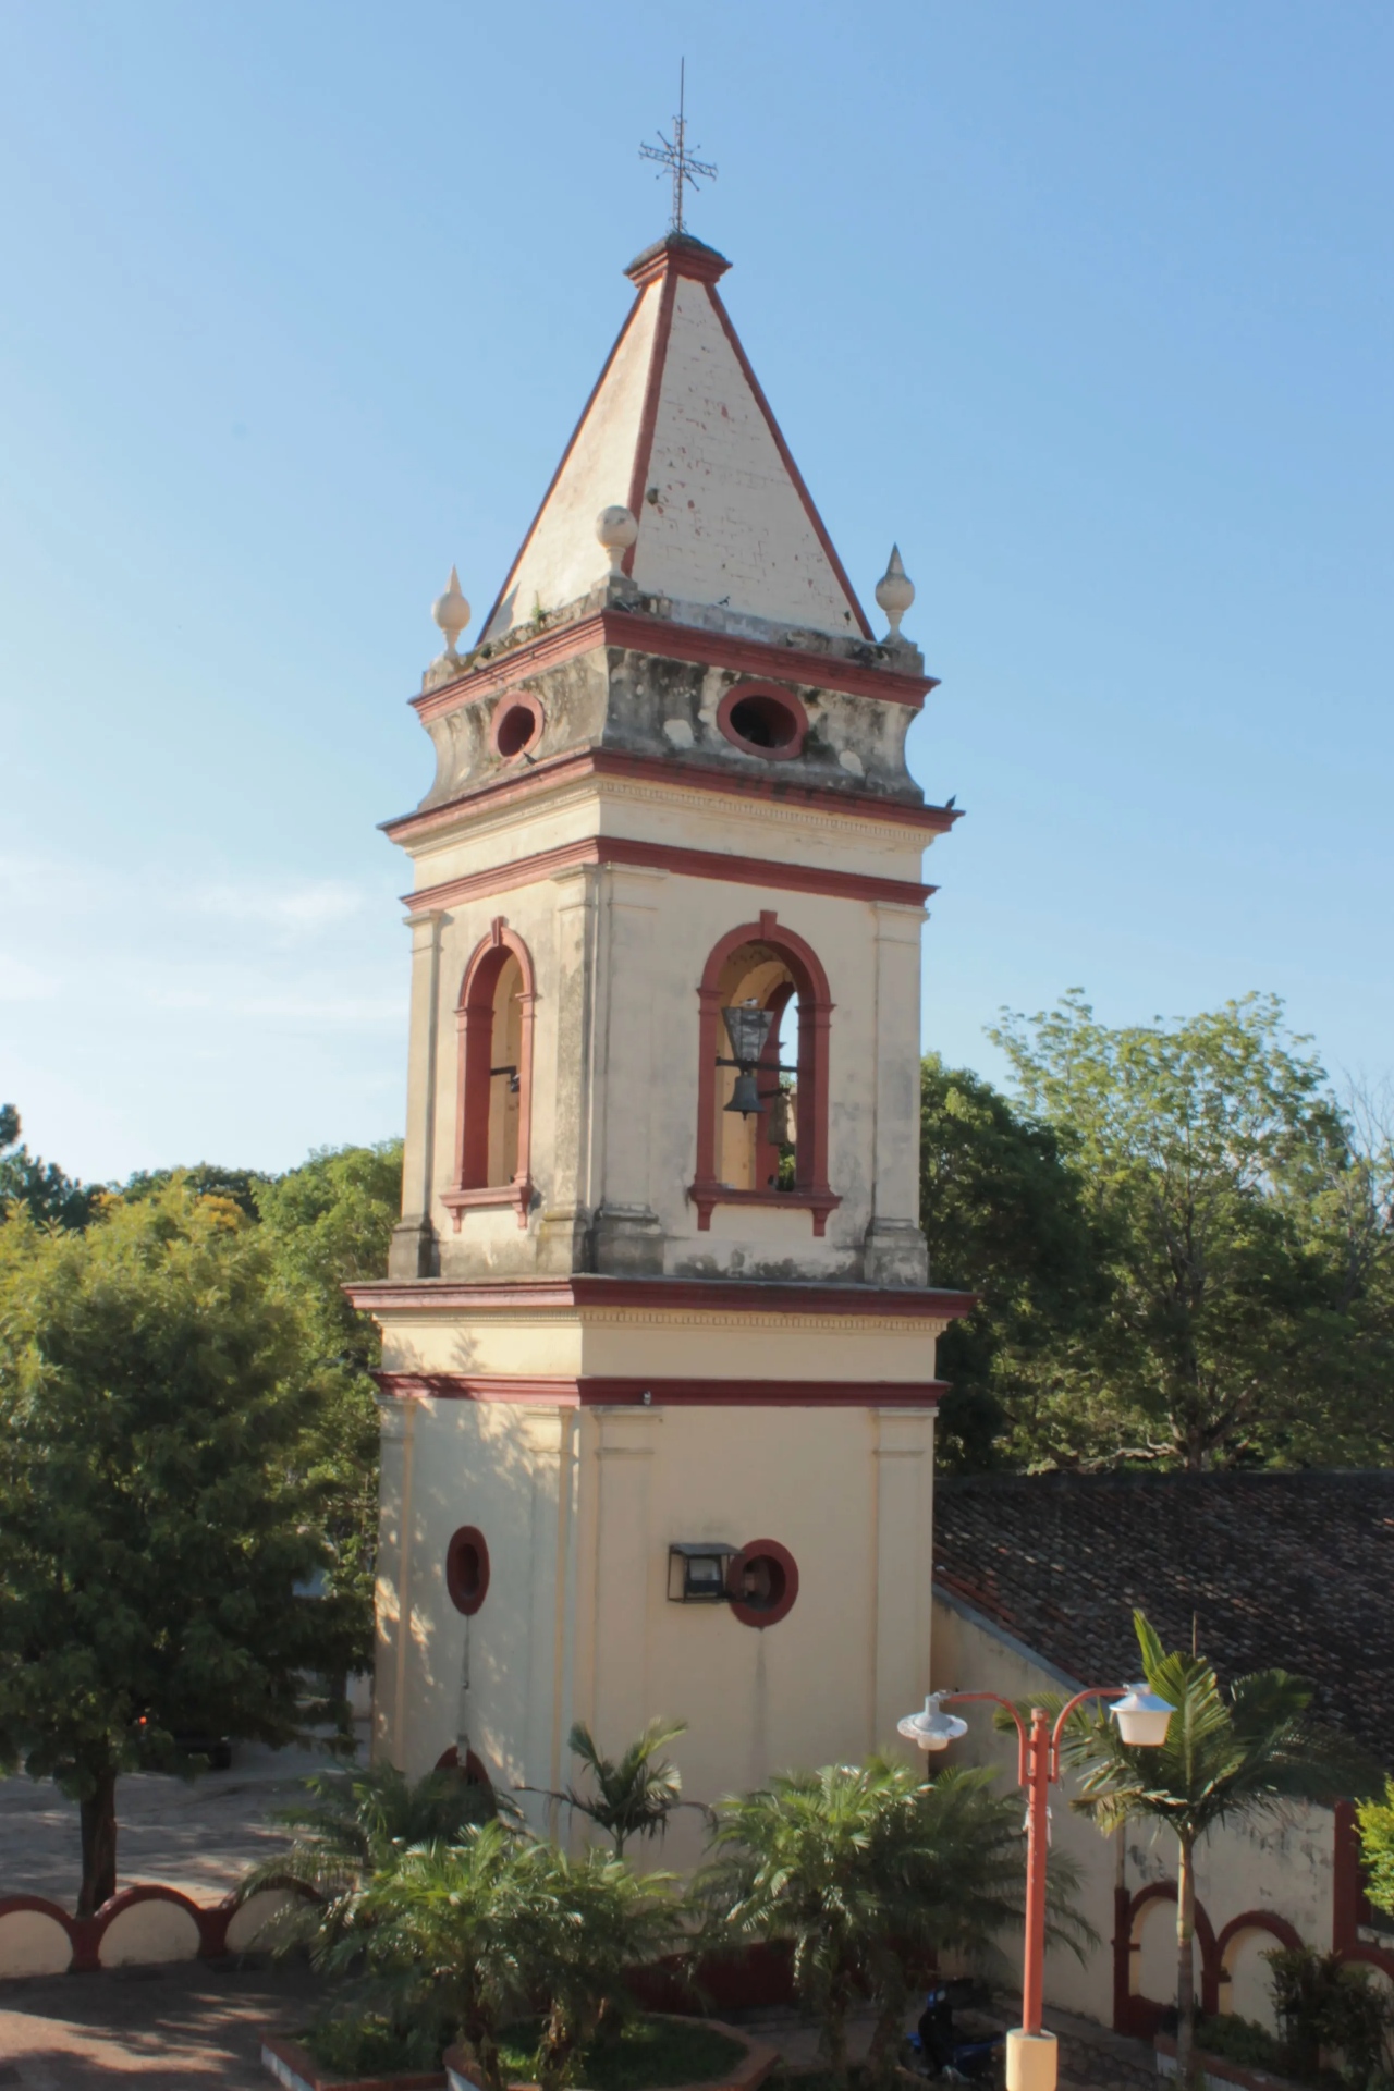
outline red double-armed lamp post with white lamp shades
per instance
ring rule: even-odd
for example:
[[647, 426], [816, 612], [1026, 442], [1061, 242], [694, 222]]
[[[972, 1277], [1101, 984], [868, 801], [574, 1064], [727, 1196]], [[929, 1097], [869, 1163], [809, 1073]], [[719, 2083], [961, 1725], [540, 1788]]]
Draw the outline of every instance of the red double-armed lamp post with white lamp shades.
[[926, 1754], [947, 1750], [951, 1742], [968, 1733], [968, 1721], [959, 1721], [943, 1706], [963, 1706], [970, 1700], [991, 1700], [1005, 1706], [1016, 1721], [1020, 1742], [1018, 1782], [1026, 1788], [1026, 1966], [1022, 1970], [1022, 2024], [1007, 2035], [1007, 2091], [1055, 2091], [1055, 2035], [1041, 2030], [1041, 1989], [1045, 1982], [1045, 1853], [1049, 1844], [1049, 1790], [1060, 1784], [1060, 1736], [1076, 1706], [1091, 1698], [1110, 1698], [1108, 1708], [1118, 1723], [1118, 1733], [1129, 1744], [1158, 1748], [1166, 1742], [1166, 1729], [1175, 1706], [1141, 1685], [1091, 1685], [1076, 1692], [1051, 1727], [1045, 1706], [1030, 1708], [1030, 1727], [1012, 1700], [997, 1692], [934, 1692], [924, 1702], [924, 1713], [911, 1713], [897, 1723]]

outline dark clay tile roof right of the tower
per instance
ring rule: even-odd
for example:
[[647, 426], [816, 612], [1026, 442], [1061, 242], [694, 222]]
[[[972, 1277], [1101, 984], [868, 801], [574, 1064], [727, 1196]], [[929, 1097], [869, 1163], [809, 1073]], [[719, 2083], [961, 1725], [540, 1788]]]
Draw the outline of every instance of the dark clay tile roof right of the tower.
[[1394, 1470], [940, 1476], [934, 1583], [1081, 1683], [1137, 1673], [1133, 1608], [1221, 1679], [1271, 1664], [1394, 1767]]

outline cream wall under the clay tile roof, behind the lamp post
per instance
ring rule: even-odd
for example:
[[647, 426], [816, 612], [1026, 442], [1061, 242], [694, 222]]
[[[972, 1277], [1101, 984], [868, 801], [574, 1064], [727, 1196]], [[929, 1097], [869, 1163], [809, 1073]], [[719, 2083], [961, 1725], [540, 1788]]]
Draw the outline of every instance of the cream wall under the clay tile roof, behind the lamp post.
[[[1099, 1679], [1112, 1683], [1114, 1679]], [[999, 1692], [1009, 1700], [1039, 1700], [1078, 1685], [1062, 1679], [1045, 1664], [999, 1637], [991, 1627], [968, 1616], [943, 1598], [934, 1600], [934, 1690], [936, 1692]], [[947, 1763], [997, 1763], [1003, 1786], [1016, 1782], [1016, 1738], [1007, 1742], [993, 1731], [991, 1708], [963, 1708], [970, 1733], [953, 1744]], [[1081, 2012], [1103, 2024], [1114, 2009], [1114, 1886], [1135, 1894], [1154, 1880], [1177, 1878], [1175, 1842], [1152, 1840], [1145, 1830], [1131, 1828], [1126, 1842], [1101, 1838], [1085, 1817], [1068, 1807], [1072, 1782], [1053, 1794], [1053, 1851], [1068, 1853], [1081, 1867], [1078, 1907], [1099, 1934], [1087, 1961], [1051, 1949], [1045, 1963], [1045, 1995], [1049, 2003]], [[1229, 1828], [1212, 1836], [1198, 1855], [1195, 1890], [1216, 1934], [1231, 1917], [1267, 1909], [1287, 1917], [1298, 1934], [1323, 1949], [1331, 1945], [1331, 1851], [1333, 1823], [1329, 1809], [1296, 1807], [1285, 1821], [1260, 1821], [1252, 1828]], [[1233, 1980], [1221, 1986], [1221, 2009], [1239, 2012], [1273, 2026], [1267, 1995], [1269, 1970], [1260, 1955], [1277, 1940], [1269, 1932], [1246, 1932], [1233, 1940], [1227, 1966]], [[1005, 1951], [1020, 1963], [1020, 1936]], [[1200, 1980], [1200, 1953], [1195, 1955]], [[1139, 1920], [1139, 1953], [1133, 1955], [1133, 1989], [1160, 2003], [1175, 1999], [1177, 1986], [1177, 1907], [1170, 1901], [1147, 1905]]]

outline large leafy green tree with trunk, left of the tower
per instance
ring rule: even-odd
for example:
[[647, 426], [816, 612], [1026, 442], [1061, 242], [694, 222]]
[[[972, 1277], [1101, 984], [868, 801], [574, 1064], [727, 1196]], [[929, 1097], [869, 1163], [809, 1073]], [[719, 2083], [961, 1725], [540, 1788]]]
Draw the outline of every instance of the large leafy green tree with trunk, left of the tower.
[[[234, 1204], [173, 1184], [86, 1234], [0, 1227], [0, 1761], [82, 1805], [79, 1915], [115, 1890], [121, 1771], [280, 1746], [359, 1664], [307, 1478], [301, 1326]], [[297, 1595], [324, 1583], [320, 1598]]]

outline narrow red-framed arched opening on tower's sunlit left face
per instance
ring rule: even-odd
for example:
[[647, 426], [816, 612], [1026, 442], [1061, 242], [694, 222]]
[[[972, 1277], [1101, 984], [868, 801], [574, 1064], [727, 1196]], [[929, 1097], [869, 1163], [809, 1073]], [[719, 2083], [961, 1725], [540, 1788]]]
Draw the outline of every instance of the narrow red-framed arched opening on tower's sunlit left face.
[[533, 1200], [533, 1016], [537, 981], [522, 937], [495, 916], [464, 968], [456, 1004], [456, 1179], [441, 1192], [456, 1234], [472, 1207]]

